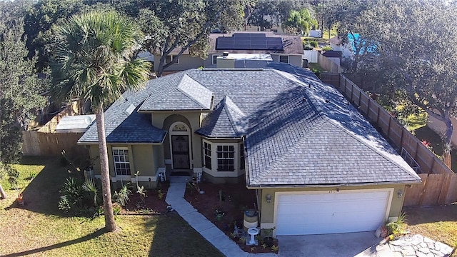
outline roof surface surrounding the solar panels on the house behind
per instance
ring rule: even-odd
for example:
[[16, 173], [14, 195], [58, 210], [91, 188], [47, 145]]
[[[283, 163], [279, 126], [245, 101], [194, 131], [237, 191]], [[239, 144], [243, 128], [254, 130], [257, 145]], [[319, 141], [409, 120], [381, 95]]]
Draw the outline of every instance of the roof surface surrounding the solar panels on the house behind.
[[[267, 38], [282, 39], [283, 49], [282, 50], [265, 50], [265, 49], [216, 49], [216, 41], [219, 37], [232, 37], [234, 34], [264, 34]], [[181, 49], [176, 48], [171, 51], [171, 55], [178, 54]], [[209, 54], [224, 53], [228, 51], [231, 54], [303, 54], [303, 44], [300, 36], [294, 35], [277, 35], [273, 32], [256, 32], [256, 31], [233, 31], [229, 34], [209, 34]], [[184, 54], [189, 54], [189, 51], [184, 51]]]

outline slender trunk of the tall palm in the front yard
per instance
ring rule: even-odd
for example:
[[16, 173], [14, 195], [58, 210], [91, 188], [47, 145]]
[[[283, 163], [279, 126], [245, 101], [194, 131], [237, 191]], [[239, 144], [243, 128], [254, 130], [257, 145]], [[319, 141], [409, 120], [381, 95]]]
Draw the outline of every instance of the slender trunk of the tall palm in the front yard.
[[114, 221], [113, 203], [111, 201], [111, 183], [109, 176], [108, 148], [106, 147], [105, 136], [105, 116], [103, 108], [100, 106], [95, 114], [97, 133], [99, 136], [99, 155], [101, 169], [101, 193], [103, 196], [103, 208], [105, 215], [106, 231], [116, 231], [116, 221]]

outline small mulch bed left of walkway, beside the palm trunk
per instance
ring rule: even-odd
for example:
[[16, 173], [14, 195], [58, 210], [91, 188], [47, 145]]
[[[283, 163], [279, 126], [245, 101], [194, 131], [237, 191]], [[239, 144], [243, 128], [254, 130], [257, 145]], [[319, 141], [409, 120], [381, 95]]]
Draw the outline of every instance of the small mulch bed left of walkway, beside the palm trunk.
[[[159, 183], [157, 188], [148, 189], [146, 191], [146, 198], [144, 203], [141, 201], [139, 193], [136, 193], [136, 188], [131, 188], [131, 195], [129, 196], [130, 201], [121, 211], [121, 214], [162, 214], [167, 213], [166, 206], [168, 204], [165, 201], [166, 192], [169, 190], [170, 183], [163, 182]], [[159, 197], [159, 190], [161, 191], [161, 197]]]

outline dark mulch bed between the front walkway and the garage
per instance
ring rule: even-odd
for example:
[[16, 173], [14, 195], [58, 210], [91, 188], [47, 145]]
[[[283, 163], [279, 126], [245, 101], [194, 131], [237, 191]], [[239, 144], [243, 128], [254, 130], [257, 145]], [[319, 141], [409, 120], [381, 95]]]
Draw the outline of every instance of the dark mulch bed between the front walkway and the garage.
[[[184, 198], [191, 203], [199, 213], [214, 223], [221, 231], [226, 233], [229, 238], [238, 243], [243, 251], [248, 253], [271, 253], [271, 248], [261, 246], [246, 246], [238, 236], [232, 237], [234, 223], [241, 223], [243, 226], [243, 215], [246, 209], [257, 209], [256, 193], [246, 188], [246, 183], [215, 184], [202, 182], [198, 184], [199, 189], [204, 191], [200, 194], [196, 188], [188, 186]], [[221, 198], [219, 192], [221, 191]], [[225, 214], [220, 221], [216, 218], [216, 209]], [[261, 245], [261, 243], [260, 243]], [[277, 246], [277, 241], [275, 243]]]

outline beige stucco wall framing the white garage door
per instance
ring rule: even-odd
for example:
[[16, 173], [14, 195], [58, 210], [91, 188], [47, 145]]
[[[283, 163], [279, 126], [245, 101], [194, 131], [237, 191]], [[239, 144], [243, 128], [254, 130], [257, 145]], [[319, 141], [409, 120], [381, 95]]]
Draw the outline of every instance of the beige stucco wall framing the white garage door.
[[[259, 206], [261, 206], [260, 211], [260, 221], [261, 228], [273, 228], [276, 226], [274, 223], [274, 208], [275, 208], [275, 193], [276, 192], [293, 192], [293, 191], [336, 191], [338, 188], [339, 191], [344, 190], [363, 190], [363, 189], [380, 189], [380, 188], [393, 188], [393, 196], [391, 201], [390, 211], [388, 211], [388, 218], [398, 217], [401, 213], [401, 208], [403, 206], [404, 191], [405, 185], [377, 185], [377, 186], [334, 186], [326, 188], [262, 188], [258, 189], [258, 199], [260, 200]], [[403, 192], [403, 197], [398, 198], [397, 192], [401, 190]], [[271, 195], [271, 202], [266, 202], [266, 195]]]

